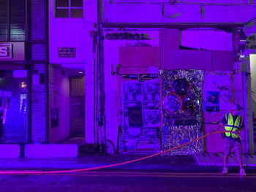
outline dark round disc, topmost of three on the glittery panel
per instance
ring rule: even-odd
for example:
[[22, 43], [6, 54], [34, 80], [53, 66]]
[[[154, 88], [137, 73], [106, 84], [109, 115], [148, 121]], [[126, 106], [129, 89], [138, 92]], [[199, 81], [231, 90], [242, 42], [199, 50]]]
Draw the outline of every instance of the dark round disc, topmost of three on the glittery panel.
[[172, 83], [173, 92], [178, 96], [184, 96], [190, 90], [190, 84], [186, 79], [174, 80]]

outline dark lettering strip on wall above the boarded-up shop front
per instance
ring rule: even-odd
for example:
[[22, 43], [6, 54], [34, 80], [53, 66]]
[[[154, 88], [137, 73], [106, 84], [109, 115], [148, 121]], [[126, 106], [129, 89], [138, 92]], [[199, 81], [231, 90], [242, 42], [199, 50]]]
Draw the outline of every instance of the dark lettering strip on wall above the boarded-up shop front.
[[148, 34], [132, 34], [129, 32], [125, 33], [111, 33], [111, 34], [105, 34], [105, 38], [108, 40], [149, 40], [152, 38], [148, 37]]

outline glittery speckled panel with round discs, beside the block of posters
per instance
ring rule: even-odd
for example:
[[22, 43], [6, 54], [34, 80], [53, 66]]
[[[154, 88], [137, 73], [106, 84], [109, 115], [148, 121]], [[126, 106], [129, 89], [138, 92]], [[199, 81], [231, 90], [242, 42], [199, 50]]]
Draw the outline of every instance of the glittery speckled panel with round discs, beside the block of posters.
[[[190, 142], [203, 134], [203, 72], [200, 70], [162, 70], [162, 150]], [[198, 140], [163, 155], [203, 152]]]

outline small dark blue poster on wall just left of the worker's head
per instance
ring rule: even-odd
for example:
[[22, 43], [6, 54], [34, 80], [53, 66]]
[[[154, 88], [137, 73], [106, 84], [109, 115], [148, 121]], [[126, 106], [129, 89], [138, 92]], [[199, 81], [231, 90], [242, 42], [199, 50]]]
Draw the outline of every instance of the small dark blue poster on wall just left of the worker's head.
[[219, 91], [206, 91], [206, 111], [219, 112]]

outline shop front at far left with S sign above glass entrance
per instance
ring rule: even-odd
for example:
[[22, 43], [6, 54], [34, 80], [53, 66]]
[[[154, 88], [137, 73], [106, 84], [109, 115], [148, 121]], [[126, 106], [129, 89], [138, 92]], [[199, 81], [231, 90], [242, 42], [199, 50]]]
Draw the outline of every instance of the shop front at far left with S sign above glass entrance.
[[24, 43], [0, 43], [1, 144], [28, 142], [29, 72], [25, 69]]

